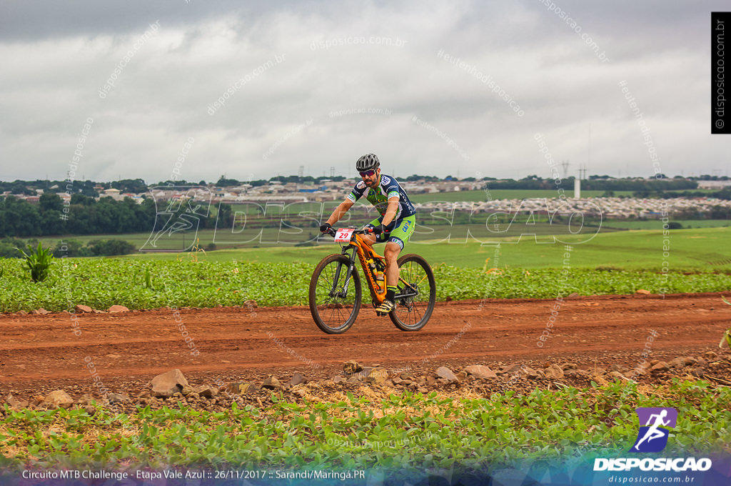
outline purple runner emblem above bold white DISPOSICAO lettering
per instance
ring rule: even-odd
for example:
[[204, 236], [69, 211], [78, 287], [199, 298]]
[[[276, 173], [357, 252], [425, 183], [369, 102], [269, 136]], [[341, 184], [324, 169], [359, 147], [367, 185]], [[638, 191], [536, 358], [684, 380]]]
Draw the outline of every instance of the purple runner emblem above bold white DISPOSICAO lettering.
[[[667, 446], [670, 429], [678, 423], [678, 411], [670, 407], [636, 408], [640, 430], [629, 452], [660, 452]], [[614, 457], [594, 459], [594, 471], [708, 471], [712, 466], [707, 457]]]

